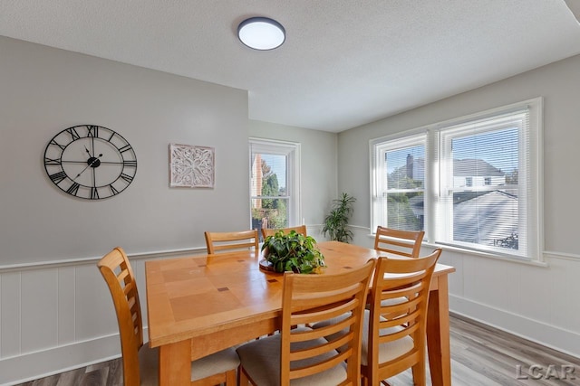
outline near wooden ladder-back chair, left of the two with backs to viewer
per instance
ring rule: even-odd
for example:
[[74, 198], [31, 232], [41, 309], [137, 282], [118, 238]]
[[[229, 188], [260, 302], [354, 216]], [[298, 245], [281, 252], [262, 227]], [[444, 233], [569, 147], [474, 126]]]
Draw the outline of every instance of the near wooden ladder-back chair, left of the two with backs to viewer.
[[[362, 312], [375, 261], [333, 275], [285, 272], [280, 333], [237, 348], [239, 384], [360, 384]], [[349, 317], [336, 324], [306, 326], [344, 313]], [[343, 330], [337, 339], [324, 338]]]

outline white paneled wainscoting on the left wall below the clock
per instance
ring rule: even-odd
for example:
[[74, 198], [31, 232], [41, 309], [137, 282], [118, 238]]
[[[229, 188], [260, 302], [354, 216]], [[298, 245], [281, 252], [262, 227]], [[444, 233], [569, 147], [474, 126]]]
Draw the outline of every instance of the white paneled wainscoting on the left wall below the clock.
[[[205, 250], [130, 257], [144, 325], [145, 261]], [[121, 355], [117, 319], [98, 259], [0, 268], [0, 384], [32, 381]]]

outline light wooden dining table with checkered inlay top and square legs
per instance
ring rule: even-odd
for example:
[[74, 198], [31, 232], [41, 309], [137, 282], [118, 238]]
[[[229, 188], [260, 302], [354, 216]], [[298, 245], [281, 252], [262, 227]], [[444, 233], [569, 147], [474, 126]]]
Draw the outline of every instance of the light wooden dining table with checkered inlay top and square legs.
[[[318, 243], [324, 274], [355, 268], [384, 252], [338, 241]], [[156, 259], [145, 263], [149, 344], [160, 348], [160, 385], [189, 385], [190, 361], [279, 329], [284, 276], [259, 267], [259, 251]], [[451, 384], [448, 275], [437, 264], [427, 325], [433, 385]]]

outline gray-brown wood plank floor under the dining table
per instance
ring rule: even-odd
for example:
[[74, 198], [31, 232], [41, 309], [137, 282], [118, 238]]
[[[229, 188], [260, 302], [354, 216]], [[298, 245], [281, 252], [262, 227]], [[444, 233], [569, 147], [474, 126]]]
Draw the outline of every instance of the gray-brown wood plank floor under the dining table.
[[[451, 315], [450, 323], [451, 374], [454, 386], [580, 386], [580, 358], [559, 353], [458, 315]], [[391, 386], [412, 385], [411, 371], [403, 372], [389, 382]], [[121, 359], [117, 359], [18, 386], [121, 384]]]

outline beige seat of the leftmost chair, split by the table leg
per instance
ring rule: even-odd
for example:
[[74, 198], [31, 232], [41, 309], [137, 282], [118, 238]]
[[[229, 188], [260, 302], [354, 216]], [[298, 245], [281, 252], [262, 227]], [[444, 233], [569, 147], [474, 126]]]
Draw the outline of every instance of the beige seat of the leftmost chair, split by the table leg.
[[[139, 351], [141, 386], [159, 385], [159, 350], [143, 344]], [[191, 362], [191, 381], [198, 381], [213, 374], [236, 370], [239, 357], [233, 348], [212, 353]]]

